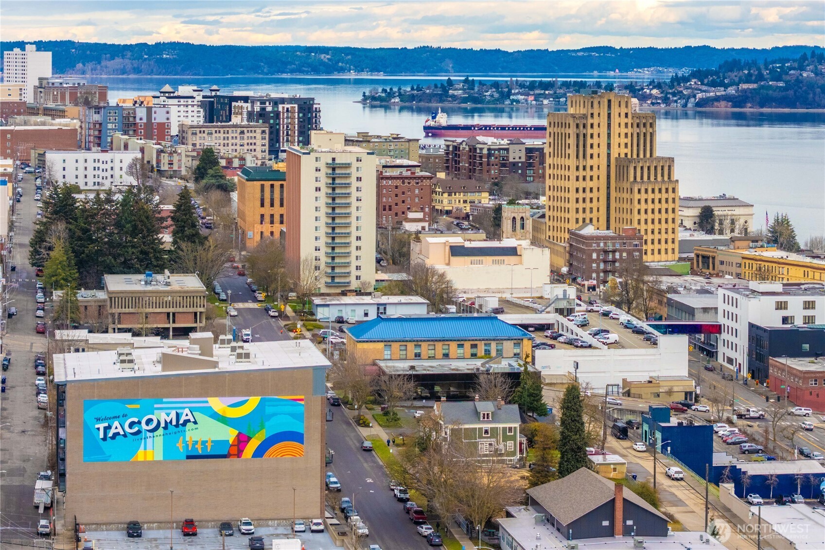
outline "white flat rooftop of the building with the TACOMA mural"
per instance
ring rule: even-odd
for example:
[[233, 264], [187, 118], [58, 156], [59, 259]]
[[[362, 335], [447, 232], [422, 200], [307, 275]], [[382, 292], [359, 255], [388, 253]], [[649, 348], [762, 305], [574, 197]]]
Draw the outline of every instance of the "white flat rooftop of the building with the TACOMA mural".
[[[182, 344], [182, 345], [181, 345]], [[253, 342], [243, 344], [250, 352], [249, 361], [237, 361], [230, 348], [214, 347], [214, 357], [188, 353], [188, 342], [163, 340], [157, 347], [130, 349], [134, 368], [120, 368], [118, 351], [61, 353], [54, 355], [54, 382], [92, 382], [134, 377], [165, 377], [213, 372], [268, 371], [276, 369], [330, 367], [327, 358], [309, 340]], [[163, 355], [171, 353], [182, 358], [212, 360], [207, 368], [162, 370]], [[216, 367], [213, 366], [216, 364]]]

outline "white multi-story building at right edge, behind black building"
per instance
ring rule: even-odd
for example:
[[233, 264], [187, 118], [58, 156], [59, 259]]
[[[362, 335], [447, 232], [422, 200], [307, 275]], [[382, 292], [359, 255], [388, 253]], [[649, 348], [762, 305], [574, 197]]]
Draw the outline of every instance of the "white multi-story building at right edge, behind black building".
[[719, 287], [719, 362], [744, 372], [747, 324], [815, 325], [825, 322], [825, 285], [815, 282], [751, 281]]

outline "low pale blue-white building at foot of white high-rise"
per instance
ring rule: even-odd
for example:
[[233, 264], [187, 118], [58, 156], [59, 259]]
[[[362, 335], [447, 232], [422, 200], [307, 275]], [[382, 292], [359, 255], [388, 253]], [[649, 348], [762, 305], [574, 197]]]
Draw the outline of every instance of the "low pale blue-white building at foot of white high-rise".
[[375, 319], [378, 315], [426, 315], [430, 302], [421, 296], [313, 296], [312, 311], [318, 322], [338, 316], [358, 321]]

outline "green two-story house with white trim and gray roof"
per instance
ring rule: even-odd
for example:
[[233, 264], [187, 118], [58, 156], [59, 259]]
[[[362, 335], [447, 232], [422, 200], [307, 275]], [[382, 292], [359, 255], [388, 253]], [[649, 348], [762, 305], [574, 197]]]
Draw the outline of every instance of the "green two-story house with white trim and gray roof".
[[436, 402], [436, 415], [445, 441], [459, 438], [478, 449], [479, 458], [512, 464], [527, 453], [527, 440], [519, 433], [518, 405], [504, 401]]

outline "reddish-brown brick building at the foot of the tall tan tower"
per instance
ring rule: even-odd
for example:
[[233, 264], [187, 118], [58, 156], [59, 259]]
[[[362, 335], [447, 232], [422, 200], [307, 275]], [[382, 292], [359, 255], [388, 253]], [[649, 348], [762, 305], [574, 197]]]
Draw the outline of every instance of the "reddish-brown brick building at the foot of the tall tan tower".
[[570, 274], [600, 287], [624, 268], [625, 263], [638, 266], [642, 262], [643, 236], [635, 227], [624, 227], [620, 235], [600, 231], [590, 224], [570, 230]]

